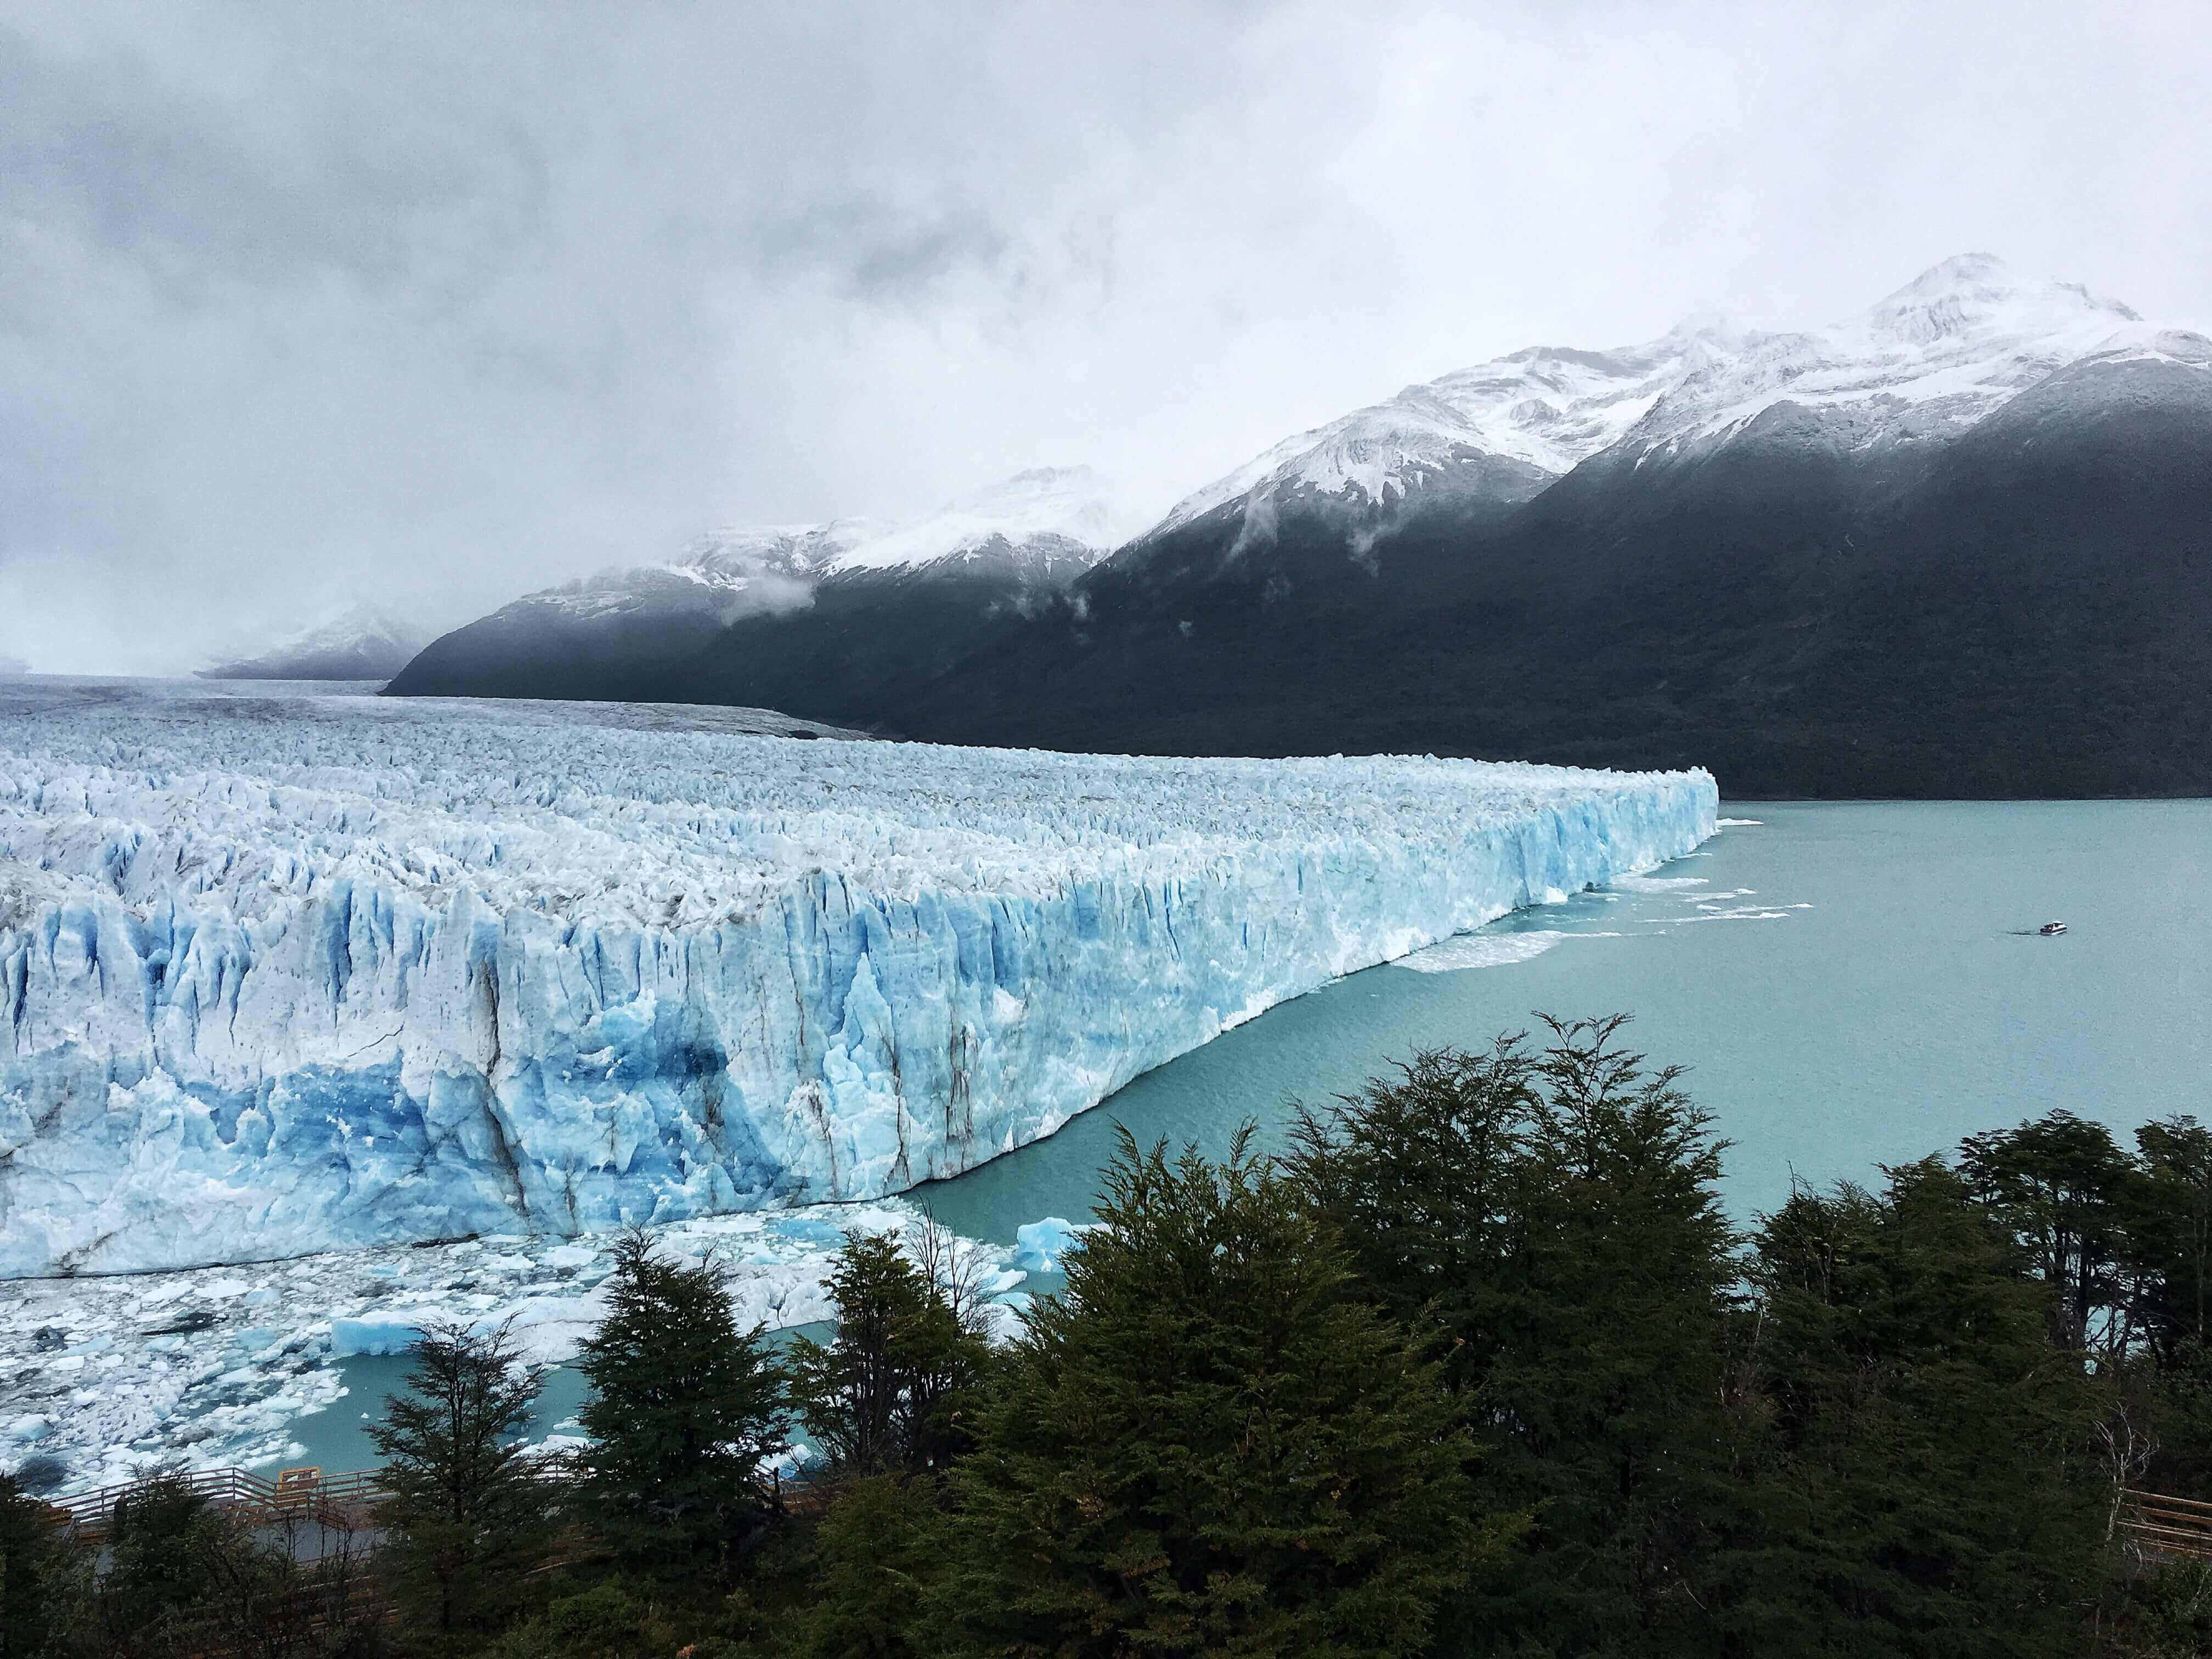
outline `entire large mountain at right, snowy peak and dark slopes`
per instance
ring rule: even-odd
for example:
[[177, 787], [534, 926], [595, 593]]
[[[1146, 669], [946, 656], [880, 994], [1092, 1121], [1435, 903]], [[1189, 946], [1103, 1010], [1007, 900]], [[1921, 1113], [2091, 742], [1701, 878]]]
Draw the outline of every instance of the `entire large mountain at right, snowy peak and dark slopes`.
[[2212, 792], [2208, 571], [2212, 341], [1966, 254], [1814, 330], [1409, 387], [841, 719], [1705, 763], [1750, 796]]

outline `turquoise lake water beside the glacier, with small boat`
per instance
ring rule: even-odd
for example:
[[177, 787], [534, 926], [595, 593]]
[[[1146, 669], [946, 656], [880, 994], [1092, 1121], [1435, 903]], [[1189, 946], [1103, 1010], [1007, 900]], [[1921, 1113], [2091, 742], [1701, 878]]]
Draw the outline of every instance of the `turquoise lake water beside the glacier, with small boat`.
[[[1281, 1146], [1318, 1102], [1425, 1046], [1486, 1046], [1559, 1018], [1632, 1013], [1690, 1066], [1739, 1221], [1792, 1177], [1867, 1179], [2051, 1108], [2126, 1137], [2212, 1117], [2212, 801], [1730, 805], [1701, 852], [1617, 891], [1509, 916], [1444, 973], [1387, 964], [1285, 1002], [1146, 1073], [1051, 1139], [911, 1197], [973, 1239], [1082, 1221], [1113, 1128], [1219, 1155], [1256, 1119]], [[2035, 927], [2066, 920], [2059, 938]], [[1033, 1276], [1031, 1290], [1051, 1290]], [[307, 1462], [352, 1469], [358, 1413], [405, 1360], [352, 1360], [352, 1398], [303, 1418]], [[575, 1411], [557, 1371], [540, 1431]]]

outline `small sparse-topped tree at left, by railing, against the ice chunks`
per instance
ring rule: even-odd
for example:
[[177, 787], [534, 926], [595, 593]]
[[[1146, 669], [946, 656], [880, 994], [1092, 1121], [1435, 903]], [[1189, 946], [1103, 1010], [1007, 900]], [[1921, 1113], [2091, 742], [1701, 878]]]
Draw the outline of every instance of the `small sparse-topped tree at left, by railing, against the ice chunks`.
[[403, 1595], [456, 1630], [493, 1617], [544, 1544], [551, 1493], [520, 1444], [542, 1374], [507, 1325], [434, 1325], [409, 1352], [407, 1394], [369, 1429], [392, 1493], [380, 1517]]

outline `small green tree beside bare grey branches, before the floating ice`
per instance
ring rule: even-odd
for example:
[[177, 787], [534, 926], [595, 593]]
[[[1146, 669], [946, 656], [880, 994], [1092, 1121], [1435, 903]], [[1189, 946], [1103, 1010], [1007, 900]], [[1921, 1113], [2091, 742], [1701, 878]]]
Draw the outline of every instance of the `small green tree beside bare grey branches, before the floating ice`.
[[936, 1223], [854, 1232], [830, 1270], [836, 1336], [787, 1356], [792, 1405], [834, 1473], [945, 1469], [989, 1371], [978, 1263]]

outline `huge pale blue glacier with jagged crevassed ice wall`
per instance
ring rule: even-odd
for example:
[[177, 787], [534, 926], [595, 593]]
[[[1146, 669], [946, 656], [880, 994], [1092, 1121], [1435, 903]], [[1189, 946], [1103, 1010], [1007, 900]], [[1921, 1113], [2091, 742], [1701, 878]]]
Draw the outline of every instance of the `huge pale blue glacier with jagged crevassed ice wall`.
[[0, 1276], [860, 1199], [1712, 834], [1703, 772], [0, 717]]

